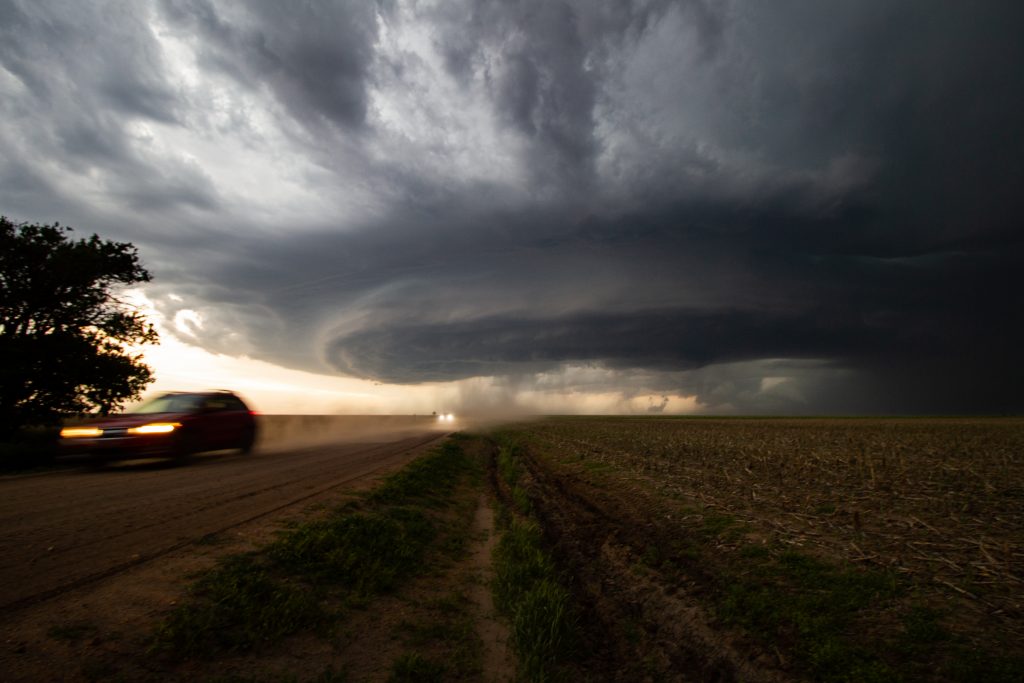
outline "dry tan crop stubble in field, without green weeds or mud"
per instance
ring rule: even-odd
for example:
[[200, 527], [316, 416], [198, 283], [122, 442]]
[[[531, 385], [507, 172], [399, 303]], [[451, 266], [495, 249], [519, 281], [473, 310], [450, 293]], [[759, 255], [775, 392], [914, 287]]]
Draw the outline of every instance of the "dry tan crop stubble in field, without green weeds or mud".
[[[564, 481], [912, 586], [958, 638], [1024, 643], [1024, 420], [556, 419], [520, 432]], [[671, 522], [670, 522], [671, 523]]]

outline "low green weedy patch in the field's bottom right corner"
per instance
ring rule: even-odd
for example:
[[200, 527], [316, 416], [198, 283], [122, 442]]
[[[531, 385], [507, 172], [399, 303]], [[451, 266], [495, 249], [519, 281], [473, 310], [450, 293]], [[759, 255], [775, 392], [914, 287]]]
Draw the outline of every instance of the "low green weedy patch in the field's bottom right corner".
[[[972, 647], [935, 610], [907, 605], [907, 587], [893, 573], [793, 551], [773, 557], [760, 546], [740, 554], [744, 571], [721, 577], [719, 616], [779, 647], [816, 681], [1024, 680], [1024, 660]], [[887, 612], [900, 615], [899, 631], [872, 635], [868, 625]]]

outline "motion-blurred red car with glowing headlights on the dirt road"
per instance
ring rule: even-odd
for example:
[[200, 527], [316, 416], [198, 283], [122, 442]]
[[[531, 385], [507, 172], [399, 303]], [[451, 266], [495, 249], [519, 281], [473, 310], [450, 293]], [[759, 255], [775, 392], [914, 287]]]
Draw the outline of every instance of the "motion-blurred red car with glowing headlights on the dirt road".
[[165, 393], [123, 413], [60, 430], [65, 455], [89, 456], [101, 465], [124, 458], [169, 457], [239, 449], [256, 441], [256, 418], [230, 391]]

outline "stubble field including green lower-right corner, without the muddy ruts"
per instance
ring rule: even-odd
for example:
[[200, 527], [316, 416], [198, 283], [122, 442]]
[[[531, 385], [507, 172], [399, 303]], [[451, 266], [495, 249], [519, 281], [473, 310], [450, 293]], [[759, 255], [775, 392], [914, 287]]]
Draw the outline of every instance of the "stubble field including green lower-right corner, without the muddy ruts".
[[[552, 471], [676, 524], [689, 559], [726, 577], [723, 625], [788, 646], [784, 667], [1024, 675], [1024, 420], [583, 418], [519, 432]], [[874, 650], [850, 645], [857, 631]]]

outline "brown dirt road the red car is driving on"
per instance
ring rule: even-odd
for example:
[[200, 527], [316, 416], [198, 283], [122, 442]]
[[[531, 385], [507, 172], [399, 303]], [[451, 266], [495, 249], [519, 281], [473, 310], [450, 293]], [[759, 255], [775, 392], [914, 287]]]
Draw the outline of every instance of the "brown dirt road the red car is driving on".
[[439, 437], [209, 454], [0, 478], [0, 617], [400, 464]]

